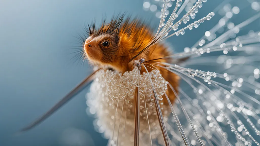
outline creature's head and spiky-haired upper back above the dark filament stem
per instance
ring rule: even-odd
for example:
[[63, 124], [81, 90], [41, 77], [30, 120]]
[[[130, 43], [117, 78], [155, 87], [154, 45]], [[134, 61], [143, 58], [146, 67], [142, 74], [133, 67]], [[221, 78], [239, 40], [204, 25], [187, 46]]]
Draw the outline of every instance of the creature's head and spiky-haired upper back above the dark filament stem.
[[[121, 72], [133, 69], [133, 63], [129, 62], [151, 44], [153, 35], [144, 21], [124, 17], [125, 14], [112, 17], [107, 24], [103, 17], [98, 29], [95, 22], [85, 28], [89, 37], [84, 41], [84, 51], [90, 63], [109, 66]], [[149, 50], [136, 59], [148, 57]]]

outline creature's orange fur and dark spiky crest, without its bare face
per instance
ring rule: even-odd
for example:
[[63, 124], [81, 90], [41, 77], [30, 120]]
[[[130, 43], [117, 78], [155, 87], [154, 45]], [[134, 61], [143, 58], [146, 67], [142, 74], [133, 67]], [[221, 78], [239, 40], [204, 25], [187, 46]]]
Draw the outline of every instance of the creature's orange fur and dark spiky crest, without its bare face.
[[[114, 44], [113, 49], [102, 49], [102, 56], [99, 56], [98, 63], [101, 66], [108, 66], [120, 72], [131, 71], [133, 69], [133, 61], [131, 59], [136, 57], [135, 60], [144, 58], [145, 60], [162, 58], [171, 55], [164, 44], [158, 43], [153, 44], [153, 31], [139, 19], [132, 19], [127, 17], [123, 21], [124, 15], [118, 15], [113, 17], [112, 20], [105, 24], [103, 19], [102, 25], [99, 29], [95, 30], [95, 23], [89, 27], [89, 35], [92, 38], [108, 35], [110, 40], [116, 40], [112, 42]], [[114, 39], [118, 38], [118, 39]], [[147, 46], [150, 45], [149, 49], [142, 52]], [[142, 53], [140, 53], [142, 52]], [[140, 54], [140, 55], [138, 55]], [[160, 59], [158, 62], [168, 62], [170, 59]], [[152, 65], [147, 64], [148, 71], [153, 68]], [[158, 68], [162, 76], [173, 86], [178, 93], [179, 77], [166, 69]], [[145, 70], [142, 69], [141, 72]], [[175, 96], [168, 87], [167, 95], [171, 102], [174, 101]], [[165, 98], [164, 98], [165, 99]], [[167, 103], [165, 99], [163, 102]]]

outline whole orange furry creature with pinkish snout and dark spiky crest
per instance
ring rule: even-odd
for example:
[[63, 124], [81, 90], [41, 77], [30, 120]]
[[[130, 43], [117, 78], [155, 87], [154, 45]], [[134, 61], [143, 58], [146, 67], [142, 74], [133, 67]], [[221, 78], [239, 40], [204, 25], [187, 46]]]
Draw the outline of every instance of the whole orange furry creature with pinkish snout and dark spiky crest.
[[[115, 25], [118, 26], [115, 28]], [[135, 64], [131, 59], [146, 48], [153, 38], [153, 31], [138, 19], [130, 21], [130, 18], [127, 18], [123, 21], [122, 18], [116, 18], [112, 19], [109, 24], [105, 25], [103, 23], [99, 30], [95, 30], [94, 27], [89, 28], [89, 38], [87, 38], [84, 44], [84, 50], [90, 62], [97, 66], [110, 67], [123, 73], [133, 69]], [[104, 46], [104, 42], [109, 43], [109, 46]], [[151, 45], [149, 49], [142, 52], [135, 60], [141, 58], [151, 60], [169, 55], [171, 54], [168, 48], [164, 44], [158, 43]], [[171, 63], [171, 61], [171, 59], [158, 60], [158, 62], [167, 63]], [[147, 63], [145, 65], [149, 72], [155, 69], [155, 66], [152, 64]], [[162, 76], [178, 93], [179, 77], [166, 69], [156, 68], [160, 70]], [[145, 72], [143, 67], [141, 68], [142, 72]], [[169, 86], [167, 95], [173, 103], [175, 95]], [[166, 98], [162, 102], [167, 103]]]

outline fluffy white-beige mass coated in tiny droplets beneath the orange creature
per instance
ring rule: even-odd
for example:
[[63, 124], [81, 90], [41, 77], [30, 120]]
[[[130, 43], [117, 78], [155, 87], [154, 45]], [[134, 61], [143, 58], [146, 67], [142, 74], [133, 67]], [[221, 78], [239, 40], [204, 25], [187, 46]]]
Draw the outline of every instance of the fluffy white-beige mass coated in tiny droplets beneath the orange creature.
[[[158, 70], [149, 72], [160, 103], [160, 110], [167, 121], [168, 106], [162, 95], [167, 91], [168, 82]], [[138, 78], [140, 85], [138, 85]], [[157, 114], [154, 107], [153, 91], [148, 74], [139, 75], [135, 67], [132, 71], [121, 74], [111, 70], [100, 70], [86, 95], [88, 109], [91, 115], [96, 115], [95, 129], [106, 138], [112, 138], [111, 144], [133, 145], [134, 134], [134, 94], [139, 87], [140, 94], [140, 139], [151, 136], [156, 140], [160, 134]], [[151, 127], [148, 127], [148, 120]], [[149, 131], [151, 130], [151, 131]], [[126, 131], [126, 132], [125, 132]], [[128, 137], [128, 140], [124, 140]]]

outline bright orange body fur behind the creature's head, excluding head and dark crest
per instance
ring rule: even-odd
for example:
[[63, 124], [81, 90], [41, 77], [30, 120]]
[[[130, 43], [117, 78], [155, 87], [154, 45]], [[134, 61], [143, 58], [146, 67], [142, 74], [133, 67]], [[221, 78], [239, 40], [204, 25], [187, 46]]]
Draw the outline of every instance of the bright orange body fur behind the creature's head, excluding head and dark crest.
[[[119, 51], [121, 56], [127, 56], [126, 59], [121, 59], [118, 57], [118, 60], [115, 60], [112, 66], [120, 66], [121, 65], [121, 71], [130, 71], [133, 69], [133, 62], [129, 63], [129, 60], [134, 57], [138, 52], [140, 52], [143, 48], [145, 48], [153, 39], [152, 31], [143, 24], [140, 24], [138, 21], [133, 21], [131, 23], [125, 23], [131, 29], [130, 34], [125, 33], [126, 30], [119, 31], [120, 34], [120, 41], [119, 41]], [[119, 55], [119, 56], [120, 56]], [[155, 44], [148, 49], [148, 51], [145, 51], [142, 53], [139, 57], [136, 58], [136, 60], [140, 58], [144, 58], [145, 60], [151, 60], [156, 58], [161, 58], [165, 56], [171, 55], [170, 52], [167, 50], [167, 48], [162, 44]], [[124, 62], [124, 63], [122, 63]], [[160, 59], [158, 62], [171, 62], [171, 59]], [[122, 66], [125, 64], [128, 64], [128, 66]], [[126, 68], [127, 67], [127, 68]], [[150, 65], [151, 68], [154, 68]], [[147, 67], [148, 71], [151, 71], [152, 69]], [[172, 72], [157, 67], [157, 69], [160, 70], [162, 76], [171, 84], [174, 88], [174, 90], [178, 93], [178, 86], [179, 86], [179, 77]], [[144, 72], [144, 68], [142, 68], [141, 72]], [[175, 99], [175, 95], [173, 91], [168, 86], [167, 95], [170, 98], [171, 102], [173, 103]], [[167, 103], [166, 98], [164, 98], [164, 103]]]

